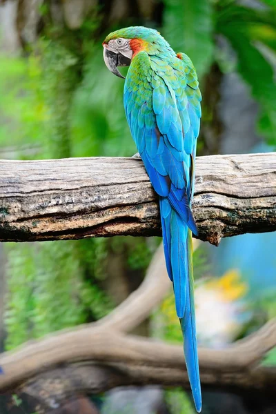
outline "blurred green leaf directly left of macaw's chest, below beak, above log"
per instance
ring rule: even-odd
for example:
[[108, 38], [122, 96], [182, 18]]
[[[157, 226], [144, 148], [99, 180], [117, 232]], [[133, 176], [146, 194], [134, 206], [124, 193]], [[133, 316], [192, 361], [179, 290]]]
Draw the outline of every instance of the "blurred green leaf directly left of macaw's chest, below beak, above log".
[[76, 157], [131, 156], [137, 151], [124, 113], [124, 82], [106, 70], [101, 49], [91, 44], [83, 80], [75, 91], [70, 112], [72, 153]]

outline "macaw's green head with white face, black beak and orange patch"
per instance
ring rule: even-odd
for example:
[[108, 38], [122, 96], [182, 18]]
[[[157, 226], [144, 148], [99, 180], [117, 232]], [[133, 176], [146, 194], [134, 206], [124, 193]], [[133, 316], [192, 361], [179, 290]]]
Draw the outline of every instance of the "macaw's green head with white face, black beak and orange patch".
[[149, 55], [173, 53], [168, 42], [155, 29], [133, 26], [108, 34], [103, 41], [103, 59], [110, 72], [124, 79], [117, 66], [130, 66], [132, 58], [141, 50]]

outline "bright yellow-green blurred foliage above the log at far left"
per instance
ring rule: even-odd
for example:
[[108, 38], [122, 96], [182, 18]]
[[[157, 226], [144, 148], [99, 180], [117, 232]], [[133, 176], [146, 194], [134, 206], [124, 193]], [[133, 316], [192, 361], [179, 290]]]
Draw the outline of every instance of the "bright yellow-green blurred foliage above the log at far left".
[[77, 58], [59, 42], [40, 41], [27, 59], [1, 57], [0, 146], [11, 137], [9, 146], [36, 146], [38, 159], [70, 156], [77, 70]]

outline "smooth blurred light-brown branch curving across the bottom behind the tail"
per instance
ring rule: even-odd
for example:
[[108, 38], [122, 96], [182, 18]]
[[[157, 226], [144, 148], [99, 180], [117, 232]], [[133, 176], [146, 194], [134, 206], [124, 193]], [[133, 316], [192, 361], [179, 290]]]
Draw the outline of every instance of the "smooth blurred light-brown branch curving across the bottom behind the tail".
[[[201, 383], [222, 388], [250, 387], [275, 391], [275, 368], [259, 364], [264, 354], [275, 345], [274, 320], [228, 348], [199, 348]], [[87, 373], [97, 371], [97, 363], [104, 366], [102, 375], [106, 380], [90, 375], [86, 377]], [[181, 384], [188, 387], [181, 346], [91, 326], [30, 342], [16, 352], [1, 355], [0, 364], [5, 372], [0, 377], [1, 392], [21, 384], [26, 386], [26, 380], [30, 378], [27, 384], [41, 384], [42, 381], [42, 388], [47, 389], [51, 387], [48, 384], [50, 378], [60, 377], [61, 383], [64, 375], [68, 378], [69, 372], [72, 380], [63, 384], [67, 392], [72, 392], [70, 387], [77, 375], [81, 375], [81, 382], [85, 384], [79, 382], [79, 387], [90, 392], [102, 392], [123, 384]], [[83, 374], [80, 374], [81, 370]], [[111, 380], [108, 380], [109, 375]]]

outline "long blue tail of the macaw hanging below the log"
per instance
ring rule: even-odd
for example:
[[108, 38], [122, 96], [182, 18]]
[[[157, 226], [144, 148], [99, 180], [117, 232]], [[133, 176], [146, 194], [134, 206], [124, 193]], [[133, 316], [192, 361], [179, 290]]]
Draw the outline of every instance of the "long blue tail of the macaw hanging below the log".
[[190, 387], [195, 408], [200, 413], [201, 388], [195, 328], [192, 231], [165, 197], [160, 197], [160, 211], [166, 266], [173, 283], [177, 316], [184, 337], [184, 355]]

